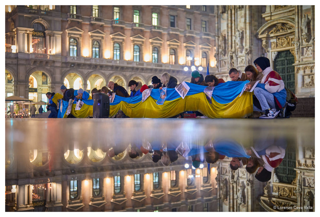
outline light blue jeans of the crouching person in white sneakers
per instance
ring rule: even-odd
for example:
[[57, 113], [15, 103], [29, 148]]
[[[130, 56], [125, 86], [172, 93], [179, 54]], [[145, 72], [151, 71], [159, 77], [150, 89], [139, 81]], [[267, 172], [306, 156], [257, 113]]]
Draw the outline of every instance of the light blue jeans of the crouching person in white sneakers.
[[253, 105], [253, 111], [265, 112], [267, 109], [276, 108], [275, 98], [272, 93], [260, 87], [254, 88], [253, 93], [257, 97], [261, 105], [261, 110]]

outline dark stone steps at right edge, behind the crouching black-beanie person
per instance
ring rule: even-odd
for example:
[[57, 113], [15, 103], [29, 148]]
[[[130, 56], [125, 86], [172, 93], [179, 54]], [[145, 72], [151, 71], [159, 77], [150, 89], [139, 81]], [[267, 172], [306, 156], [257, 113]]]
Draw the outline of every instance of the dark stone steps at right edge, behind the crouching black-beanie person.
[[298, 98], [296, 109], [290, 117], [315, 117], [315, 98]]

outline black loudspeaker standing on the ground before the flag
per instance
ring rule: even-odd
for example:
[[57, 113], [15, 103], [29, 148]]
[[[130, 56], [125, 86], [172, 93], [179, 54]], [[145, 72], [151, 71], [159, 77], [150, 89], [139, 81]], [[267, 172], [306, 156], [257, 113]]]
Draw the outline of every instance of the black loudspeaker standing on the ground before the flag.
[[93, 118], [108, 118], [109, 112], [109, 96], [105, 93], [93, 94]]

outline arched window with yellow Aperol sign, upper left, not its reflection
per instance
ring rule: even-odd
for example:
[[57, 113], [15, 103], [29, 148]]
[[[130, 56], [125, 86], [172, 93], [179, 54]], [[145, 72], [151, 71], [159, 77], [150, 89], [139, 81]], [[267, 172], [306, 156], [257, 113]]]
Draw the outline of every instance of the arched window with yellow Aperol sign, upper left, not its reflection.
[[34, 23], [32, 28], [32, 50], [33, 53], [46, 53], [45, 28], [41, 23]]

